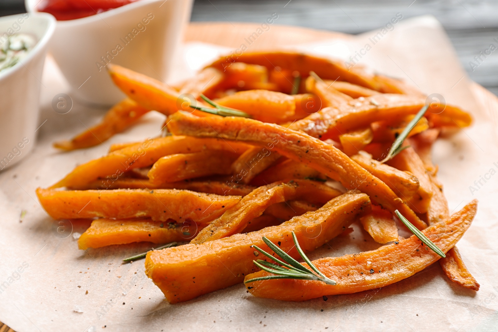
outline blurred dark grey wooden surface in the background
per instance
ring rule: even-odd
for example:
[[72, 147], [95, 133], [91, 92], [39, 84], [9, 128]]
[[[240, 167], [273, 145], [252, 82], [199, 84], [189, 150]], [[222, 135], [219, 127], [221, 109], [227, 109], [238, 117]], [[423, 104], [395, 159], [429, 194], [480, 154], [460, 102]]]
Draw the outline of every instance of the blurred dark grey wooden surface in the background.
[[[0, 16], [24, 11], [23, 0], [0, 0]], [[262, 22], [273, 12], [277, 24], [351, 34], [383, 26], [397, 12], [404, 19], [432, 14], [470, 78], [498, 95], [498, 52], [477, 68], [469, 64], [490, 44], [498, 46], [496, 0], [195, 0], [191, 21]]]

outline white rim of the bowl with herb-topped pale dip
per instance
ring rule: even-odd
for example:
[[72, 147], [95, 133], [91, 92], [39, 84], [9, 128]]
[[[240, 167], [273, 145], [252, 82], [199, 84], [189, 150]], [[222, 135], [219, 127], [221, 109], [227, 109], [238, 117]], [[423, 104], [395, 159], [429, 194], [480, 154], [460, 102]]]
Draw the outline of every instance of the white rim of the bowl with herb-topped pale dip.
[[[3, 17], [0, 17], [0, 22], [1, 21], [9, 21], [9, 20], [11, 20], [13, 22], [13, 21], [16, 21], [17, 18], [22, 17], [24, 14], [25, 13], [3, 16]], [[50, 38], [52, 38], [52, 35], [54, 33], [54, 30], [55, 30], [55, 23], [56, 23], [55, 17], [48, 14], [48, 13], [44, 13], [44, 12], [29, 12], [28, 14], [30, 15], [29, 18], [44, 20], [45, 22], [48, 23], [48, 27], [46, 28], [45, 32], [43, 33], [43, 36], [36, 42], [33, 49], [30, 52], [28, 52], [28, 54], [26, 55], [26, 57], [24, 59], [22, 59], [22, 62], [19, 61], [15, 65], [13, 65], [12, 67], [6, 68], [5, 70], [0, 71], [0, 80], [4, 80], [7, 77], [10, 77], [11, 75], [15, 75], [15, 73], [18, 72], [20, 70], [20, 68], [25, 67], [25, 64], [31, 62], [31, 60], [34, 57], [39, 55], [39, 53], [47, 45]], [[27, 33], [29, 33], [29, 31], [27, 31]], [[40, 80], [40, 79], [38, 79], [38, 80]], [[40, 81], [40, 83], [41, 83], [41, 81]]]

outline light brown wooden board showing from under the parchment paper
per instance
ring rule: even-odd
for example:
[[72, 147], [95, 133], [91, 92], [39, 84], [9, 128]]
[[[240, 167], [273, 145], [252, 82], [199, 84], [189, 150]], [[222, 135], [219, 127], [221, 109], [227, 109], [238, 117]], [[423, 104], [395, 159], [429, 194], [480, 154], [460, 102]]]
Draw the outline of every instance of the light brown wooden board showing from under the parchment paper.
[[[226, 47], [238, 48], [244, 38], [252, 34], [260, 24], [256, 23], [191, 23], [185, 33], [185, 41], [202, 41]], [[289, 44], [308, 43], [328, 38], [347, 38], [342, 33], [314, 30], [295, 26], [274, 25], [259, 36], [251, 50], [279, 48]], [[471, 90], [479, 106], [488, 114], [498, 113], [498, 98], [482, 86], [473, 83]], [[0, 322], [0, 332], [14, 332]]]

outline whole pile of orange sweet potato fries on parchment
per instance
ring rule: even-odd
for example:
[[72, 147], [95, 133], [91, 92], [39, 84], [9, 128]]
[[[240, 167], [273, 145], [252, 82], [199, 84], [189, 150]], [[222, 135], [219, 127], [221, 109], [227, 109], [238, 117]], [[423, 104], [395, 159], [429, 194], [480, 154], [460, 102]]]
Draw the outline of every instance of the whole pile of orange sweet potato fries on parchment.
[[[190, 241], [146, 256], [145, 273], [170, 303], [254, 278], [246, 286], [258, 297], [354, 293], [405, 279], [438, 259], [452, 281], [479, 289], [455, 246], [477, 202], [450, 216], [431, 160], [438, 136], [471, 124], [467, 112], [428, 105], [391, 158], [391, 145], [426, 98], [357, 66], [348, 71], [340, 62], [291, 52], [248, 53], [222, 57], [173, 87], [118, 65], [108, 70], [127, 98], [101, 123], [54, 146], [100, 144], [148, 111], [167, 115], [167, 130], [113, 145], [37, 189], [38, 199], [54, 219], [93, 219], [78, 240], [81, 249]], [[404, 225], [395, 211], [446, 257], [415, 235], [399, 237]], [[271, 274], [255, 259], [278, 262], [257, 257], [256, 247], [272, 252], [263, 236], [299, 258], [292, 232], [309, 252], [355, 221], [385, 245], [312, 262], [337, 284], [259, 278]]]

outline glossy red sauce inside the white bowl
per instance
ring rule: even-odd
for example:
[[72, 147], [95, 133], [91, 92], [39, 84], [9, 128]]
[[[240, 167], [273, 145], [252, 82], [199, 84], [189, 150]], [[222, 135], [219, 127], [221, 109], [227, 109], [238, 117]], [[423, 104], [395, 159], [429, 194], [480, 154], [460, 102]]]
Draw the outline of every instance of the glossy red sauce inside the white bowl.
[[58, 21], [92, 16], [137, 0], [42, 0], [38, 11], [48, 12]]

